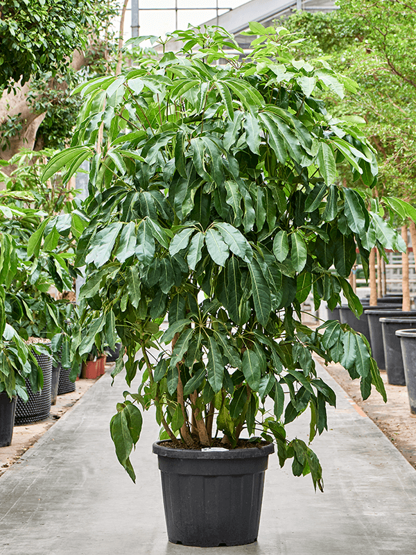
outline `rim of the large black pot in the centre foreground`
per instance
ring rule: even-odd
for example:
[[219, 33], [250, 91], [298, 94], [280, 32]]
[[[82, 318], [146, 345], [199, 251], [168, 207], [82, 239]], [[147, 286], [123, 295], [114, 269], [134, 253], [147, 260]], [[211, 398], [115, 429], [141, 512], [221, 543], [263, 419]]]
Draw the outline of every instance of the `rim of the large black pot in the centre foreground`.
[[168, 456], [171, 459], [254, 459], [259, 456], [268, 456], [275, 452], [275, 444], [269, 443], [262, 447], [247, 447], [245, 449], [229, 449], [227, 451], [200, 451], [197, 449], [175, 449], [160, 445], [162, 441], [155, 441], [152, 446], [153, 453], [159, 456]]

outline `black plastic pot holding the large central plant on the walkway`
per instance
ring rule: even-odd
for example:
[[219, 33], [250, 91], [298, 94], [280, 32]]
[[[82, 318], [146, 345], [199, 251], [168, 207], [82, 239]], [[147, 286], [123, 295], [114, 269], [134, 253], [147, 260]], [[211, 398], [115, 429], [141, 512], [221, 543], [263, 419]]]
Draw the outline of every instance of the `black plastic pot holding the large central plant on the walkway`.
[[257, 540], [264, 473], [273, 444], [198, 451], [153, 443], [162, 476], [168, 539], [196, 547]]

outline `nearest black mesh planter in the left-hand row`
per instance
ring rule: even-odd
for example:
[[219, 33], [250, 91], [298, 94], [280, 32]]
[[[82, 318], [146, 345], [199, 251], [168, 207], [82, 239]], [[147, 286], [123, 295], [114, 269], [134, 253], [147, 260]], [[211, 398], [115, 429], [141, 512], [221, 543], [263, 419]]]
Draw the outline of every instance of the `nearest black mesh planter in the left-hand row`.
[[35, 357], [40, 368], [42, 368], [44, 386], [42, 391], [34, 392], [29, 380], [26, 379], [29, 400], [25, 403], [21, 398], [17, 399], [16, 425], [44, 420], [48, 418], [51, 412], [52, 357], [47, 355], [35, 355]]

